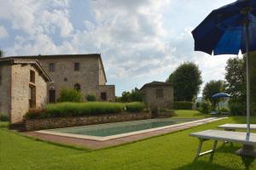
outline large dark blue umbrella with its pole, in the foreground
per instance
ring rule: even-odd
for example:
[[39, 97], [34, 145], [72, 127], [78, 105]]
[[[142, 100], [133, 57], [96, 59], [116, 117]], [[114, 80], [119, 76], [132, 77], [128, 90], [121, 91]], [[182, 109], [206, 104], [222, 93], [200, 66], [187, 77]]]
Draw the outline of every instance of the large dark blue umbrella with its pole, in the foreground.
[[249, 52], [256, 50], [256, 0], [238, 0], [212, 11], [192, 31], [195, 51], [207, 54], [247, 53], [247, 136], [250, 134]]

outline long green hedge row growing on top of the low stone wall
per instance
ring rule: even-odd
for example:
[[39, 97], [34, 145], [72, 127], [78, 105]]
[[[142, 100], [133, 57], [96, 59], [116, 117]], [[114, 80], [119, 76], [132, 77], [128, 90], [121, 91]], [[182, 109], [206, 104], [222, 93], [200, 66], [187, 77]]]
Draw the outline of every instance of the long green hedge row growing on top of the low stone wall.
[[140, 112], [144, 105], [140, 102], [128, 104], [110, 102], [85, 102], [85, 103], [58, 103], [46, 105], [44, 109], [31, 109], [26, 113], [26, 119], [40, 119], [51, 117], [69, 116], [95, 116], [104, 114], [117, 114], [123, 111]]

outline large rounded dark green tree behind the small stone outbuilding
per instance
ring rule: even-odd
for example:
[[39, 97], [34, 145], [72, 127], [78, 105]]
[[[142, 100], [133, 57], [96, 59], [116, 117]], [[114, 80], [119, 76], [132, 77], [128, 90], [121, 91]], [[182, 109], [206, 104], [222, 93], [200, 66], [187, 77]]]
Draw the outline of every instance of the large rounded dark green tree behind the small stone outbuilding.
[[172, 82], [176, 101], [192, 101], [200, 91], [201, 71], [193, 62], [179, 65], [167, 82]]

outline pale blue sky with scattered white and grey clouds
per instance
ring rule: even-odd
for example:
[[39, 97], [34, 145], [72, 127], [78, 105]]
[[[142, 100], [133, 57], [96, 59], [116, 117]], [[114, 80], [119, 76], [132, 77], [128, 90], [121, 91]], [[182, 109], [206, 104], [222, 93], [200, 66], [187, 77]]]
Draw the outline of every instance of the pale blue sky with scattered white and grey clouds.
[[191, 31], [214, 8], [233, 2], [0, 0], [0, 48], [5, 56], [102, 54], [116, 95], [166, 81], [186, 61], [199, 66], [205, 84], [224, 79], [227, 59], [236, 56], [195, 52]]

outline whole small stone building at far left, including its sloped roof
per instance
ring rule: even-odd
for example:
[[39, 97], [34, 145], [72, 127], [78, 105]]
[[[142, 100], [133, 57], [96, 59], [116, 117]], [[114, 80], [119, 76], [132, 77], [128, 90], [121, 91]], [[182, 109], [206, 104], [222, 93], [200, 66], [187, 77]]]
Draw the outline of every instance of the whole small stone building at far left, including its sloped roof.
[[50, 78], [35, 59], [0, 59], [0, 114], [22, 122], [29, 108], [43, 107]]

